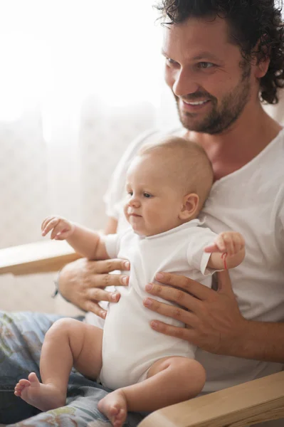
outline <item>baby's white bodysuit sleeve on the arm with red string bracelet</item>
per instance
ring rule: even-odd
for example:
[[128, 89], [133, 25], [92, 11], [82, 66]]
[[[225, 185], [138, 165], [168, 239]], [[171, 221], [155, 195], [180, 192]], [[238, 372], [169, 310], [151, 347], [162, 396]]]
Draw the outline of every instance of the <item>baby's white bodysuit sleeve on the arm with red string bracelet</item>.
[[210, 228], [199, 227], [190, 238], [186, 254], [189, 266], [201, 271], [203, 275], [212, 275], [216, 272], [214, 268], [207, 267], [211, 253], [205, 253], [204, 248], [213, 243], [217, 236]]

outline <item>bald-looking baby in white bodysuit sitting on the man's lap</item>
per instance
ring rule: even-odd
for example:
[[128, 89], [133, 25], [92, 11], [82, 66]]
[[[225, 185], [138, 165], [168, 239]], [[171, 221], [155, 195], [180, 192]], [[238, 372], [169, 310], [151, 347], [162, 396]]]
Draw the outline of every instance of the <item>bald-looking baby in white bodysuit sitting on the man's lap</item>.
[[[152, 312], [143, 300], [148, 295], [145, 285], [159, 271], [211, 286], [214, 271], [236, 267], [243, 260], [245, 244], [239, 233], [216, 235], [197, 219], [212, 182], [204, 150], [172, 137], [143, 147], [127, 170], [127, 231], [102, 236], [64, 218], [43, 221], [43, 236], [51, 231], [51, 238], [66, 239], [84, 257], [129, 260], [130, 281], [120, 291], [120, 301], [109, 305], [103, 330], [73, 319], [53, 324], [41, 352], [42, 383], [32, 372], [16, 384], [16, 396], [41, 411], [65, 405], [74, 366], [115, 390], [98, 408], [120, 427], [127, 411], [154, 411], [199, 394], [205, 372], [194, 360], [196, 347], [152, 330]], [[184, 326], [157, 313], [155, 318]]]

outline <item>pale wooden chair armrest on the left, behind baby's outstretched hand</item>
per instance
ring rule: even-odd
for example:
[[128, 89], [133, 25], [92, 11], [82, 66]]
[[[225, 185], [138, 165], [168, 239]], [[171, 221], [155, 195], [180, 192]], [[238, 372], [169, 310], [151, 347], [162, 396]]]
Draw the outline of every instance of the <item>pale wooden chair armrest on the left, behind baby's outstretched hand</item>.
[[65, 241], [42, 241], [0, 249], [0, 274], [23, 275], [60, 270], [80, 258]]

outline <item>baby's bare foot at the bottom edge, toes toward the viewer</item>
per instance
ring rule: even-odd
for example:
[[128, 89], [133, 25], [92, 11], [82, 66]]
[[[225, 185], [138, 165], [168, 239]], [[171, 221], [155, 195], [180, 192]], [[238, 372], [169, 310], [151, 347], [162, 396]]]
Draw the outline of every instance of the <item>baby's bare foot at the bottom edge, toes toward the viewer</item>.
[[127, 401], [122, 390], [107, 394], [98, 403], [98, 409], [110, 420], [113, 427], [121, 427], [127, 416]]

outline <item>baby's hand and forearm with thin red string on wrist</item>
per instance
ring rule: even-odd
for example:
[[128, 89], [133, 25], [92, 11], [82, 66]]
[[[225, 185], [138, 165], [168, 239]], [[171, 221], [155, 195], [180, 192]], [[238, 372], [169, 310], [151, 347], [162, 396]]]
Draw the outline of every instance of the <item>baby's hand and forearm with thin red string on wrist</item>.
[[245, 241], [236, 231], [225, 231], [217, 236], [212, 245], [206, 246], [204, 252], [210, 253], [208, 266], [215, 270], [234, 268], [245, 258]]

